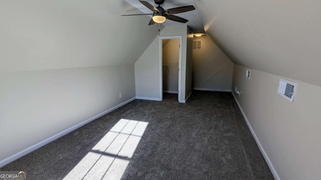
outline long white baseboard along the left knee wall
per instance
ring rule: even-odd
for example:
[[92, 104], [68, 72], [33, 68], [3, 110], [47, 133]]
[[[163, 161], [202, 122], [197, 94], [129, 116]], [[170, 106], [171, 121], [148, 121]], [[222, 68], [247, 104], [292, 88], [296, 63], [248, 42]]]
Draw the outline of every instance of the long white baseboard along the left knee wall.
[[11, 155], [10, 157], [7, 157], [7, 158], [1, 160], [0, 161], [0, 167], [2, 167], [4, 165], [6, 165], [6, 164], [18, 159], [18, 158], [20, 158], [20, 157], [22, 157], [22, 156], [24, 156], [24, 155], [26, 155], [26, 154], [34, 151], [34, 150], [46, 145], [46, 144], [48, 144], [49, 142], [52, 142], [52, 141], [56, 140], [59, 137], [62, 137], [64, 135], [66, 135], [67, 133], [69, 133], [69, 132], [71, 132], [71, 131], [73, 131], [73, 130], [75, 130], [75, 129], [77, 129], [77, 128], [79, 128], [79, 127], [81, 127], [81, 126], [83, 126], [83, 125], [85, 125], [85, 124], [87, 124], [87, 123], [89, 123], [89, 122], [91, 122], [91, 121], [93, 121], [93, 120], [95, 120], [95, 119], [97, 119], [97, 118], [99, 118], [99, 117], [101, 117], [101, 116], [113, 111], [113, 110], [115, 110], [116, 108], [119, 108], [119, 107], [125, 105], [126, 103], [133, 101], [133, 100], [135, 100], [135, 97], [133, 97], [131, 99], [128, 99], [128, 100], [126, 100], [126, 101], [124, 101], [124, 102], [122, 102], [122, 103], [120, 103], [120, 104], [118, 104], [118, 105], [116, 105], [114, 107], [111, 107], [110, 109], [107, 109], [107, 110], [105, 110], [105, 111], [103, 111], [103, 112], [101, 112], [101, 113], [99, 113], [99, 114], [97, 114], [97, 115], [95, 115], [93, 117], [90, 117], [89, 119], [87, 119], [85, 121], [82, 121], [82, 122], [80, 122], [80, 123], [78, 123], [78, 124], [76, 124], [76, 125], [74, 125], [72, 127], [69, 127], [68, 129], [66, 129], [66, 130], [64, 130], [62, 132], [59, 132], [56, 135], [53, 135], [53, 136], [51, 136], [51, 137], [49, 137], [49, 138], [47, 138], [47, 139], [45, 139], [45, 140], [43, 140], [41, 142], [38, 142], [38, 143], [36, 143], [36, 144], [26, 148], [26, 149], [14, 154], [14, 155]]

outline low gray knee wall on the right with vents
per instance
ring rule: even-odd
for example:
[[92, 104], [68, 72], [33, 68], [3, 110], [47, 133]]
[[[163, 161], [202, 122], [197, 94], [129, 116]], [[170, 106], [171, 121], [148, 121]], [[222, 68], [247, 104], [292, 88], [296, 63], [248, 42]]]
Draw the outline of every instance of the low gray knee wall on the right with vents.
[[294, 102], [276, 93], [280, 76], [235, 65], [233, 88], [280, 179], [319, 179], [321, 87], [299, 80]]

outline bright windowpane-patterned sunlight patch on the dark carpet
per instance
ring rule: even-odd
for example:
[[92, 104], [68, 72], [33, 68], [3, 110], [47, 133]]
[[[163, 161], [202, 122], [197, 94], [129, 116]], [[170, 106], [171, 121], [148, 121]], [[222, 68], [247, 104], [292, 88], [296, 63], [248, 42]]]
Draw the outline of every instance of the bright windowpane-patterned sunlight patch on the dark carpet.
[[64, 179], [120, 179], [147, 125], [120, 119]]

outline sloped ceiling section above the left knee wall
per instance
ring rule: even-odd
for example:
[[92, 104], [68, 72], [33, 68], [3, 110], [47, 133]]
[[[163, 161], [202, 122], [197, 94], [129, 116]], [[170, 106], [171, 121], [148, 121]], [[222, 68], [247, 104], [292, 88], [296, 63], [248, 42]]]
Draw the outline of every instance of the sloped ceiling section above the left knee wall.
[[158, 26], [128, 12], [140, 11], [124, 0], [2, 0], [0, 72], [133, 64]]

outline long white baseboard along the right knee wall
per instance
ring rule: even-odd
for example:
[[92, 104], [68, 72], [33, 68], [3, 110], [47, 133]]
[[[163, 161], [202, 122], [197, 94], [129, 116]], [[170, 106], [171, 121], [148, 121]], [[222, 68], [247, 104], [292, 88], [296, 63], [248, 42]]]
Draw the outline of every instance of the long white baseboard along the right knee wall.
[[245, 115], [245, 113], [244, 113], [241, 105], [240, 105], [239, 102], [237, 101], [237, 98], [236, 98], [235, 94], [234, 94], [233, 92], [232, 92], [232, 94], [233, 94], [233, 96], [234, 96], [234, 98], [235, 98], [235, 101], [236, 101], [237, 105], [239, 106], [239, 108], [240, 108], [240, 110], [241, 110], [241, 112], [242, 112], [242, 114], [243, 114], [243, 117], [244, 117], [244, 119], [245, 119], [245, 121], [246, 121], [247, 126], [249, 127], [249, 129], [250, 129], [250, 131], [251, 131], [251, 133], [252, 133], [252, 135], [253, 135], [256, 143], [257, 143], [257, 145], [259, 146], [259, 148], [260, 148], [260, 150], [261, 150], [261, 152], [262, 152], [262, 154], [263, 154], [263, 157], [264, 157], [265, 161], [267, 162], [267, 165], [270, 167], [270, 170], [271, 170], [274, 178], [277, 179], [277, 180], [280, 180], [280, 177], [279, 177], [279, 175], [277, 174], [277, 172], [276, 172], [276, 170], [275, 170], [275, 168], [274, 168], [274, 166], [273, 166], [270, 158], [267, 156], [267, 154], [266, 154], [266, 152], [265, 152], [265, 150], [264, 150], [264, 148], [263, 148], [260, 140], [259, 140], [258, 137], [256, 136], [256, 134], [255, 134], [255, 132], [254, 132], [254, 130], [253, 130], [253, 128], [252, 128], [249, 120], [247, 119], [247, 117], [246, 117], [246, 115]]

